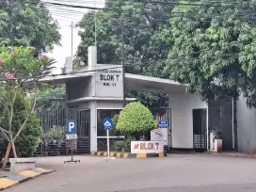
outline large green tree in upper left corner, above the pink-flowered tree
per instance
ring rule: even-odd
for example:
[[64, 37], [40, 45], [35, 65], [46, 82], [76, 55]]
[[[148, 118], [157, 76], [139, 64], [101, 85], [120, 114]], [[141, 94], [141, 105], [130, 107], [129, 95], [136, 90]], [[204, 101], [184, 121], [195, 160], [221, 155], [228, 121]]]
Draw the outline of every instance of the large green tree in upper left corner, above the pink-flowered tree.
[[58, 24], [40, 0], [0, 1], [0, 46], [34, 46], [39, 52], [59, 43]]

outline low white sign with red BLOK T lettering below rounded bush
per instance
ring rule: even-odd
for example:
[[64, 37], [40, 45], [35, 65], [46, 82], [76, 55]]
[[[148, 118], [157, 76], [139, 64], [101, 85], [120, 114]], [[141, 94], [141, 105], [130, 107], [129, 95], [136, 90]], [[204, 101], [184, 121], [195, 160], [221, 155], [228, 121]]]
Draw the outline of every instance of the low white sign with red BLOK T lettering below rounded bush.
[[159, 153], [164, 152], [164, 145], [153, 141], [132, 141], [131, 153]]

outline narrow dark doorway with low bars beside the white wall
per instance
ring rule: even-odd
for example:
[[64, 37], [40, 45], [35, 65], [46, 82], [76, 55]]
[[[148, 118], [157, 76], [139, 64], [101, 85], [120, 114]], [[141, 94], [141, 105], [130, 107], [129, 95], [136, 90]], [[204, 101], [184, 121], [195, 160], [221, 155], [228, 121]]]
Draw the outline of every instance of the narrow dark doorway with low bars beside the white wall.
[[205, 152], [206, 146], [206, 109], [193, 109], [193, 140], [196, 152]]

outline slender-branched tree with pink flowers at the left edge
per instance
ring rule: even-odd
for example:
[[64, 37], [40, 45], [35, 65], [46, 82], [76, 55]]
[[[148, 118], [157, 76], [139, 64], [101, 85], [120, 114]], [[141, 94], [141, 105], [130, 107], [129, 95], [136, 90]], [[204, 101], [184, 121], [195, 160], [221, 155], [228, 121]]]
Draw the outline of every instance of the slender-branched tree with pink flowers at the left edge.
[[[34, 115], [39, 80], [49, 74], [52, 64], [55, 63], [55, 60], [47, 56], [35, 58], [34, 55], [32, 47], [2, 47], [0, 49], [0, 101], [4, 104], [3, 111], [8, 113], [8, 122], [6, 121], [5, 127], [0, 127], [0, 133], [11, 144], [15, 158], [17, 158], [15, 141], [24, 132], [27, 121]], [[14, 133], [14, 104], [21, 97], [25, 117], [19, 123], [20, 127], [15, 127], [17, 132]]]

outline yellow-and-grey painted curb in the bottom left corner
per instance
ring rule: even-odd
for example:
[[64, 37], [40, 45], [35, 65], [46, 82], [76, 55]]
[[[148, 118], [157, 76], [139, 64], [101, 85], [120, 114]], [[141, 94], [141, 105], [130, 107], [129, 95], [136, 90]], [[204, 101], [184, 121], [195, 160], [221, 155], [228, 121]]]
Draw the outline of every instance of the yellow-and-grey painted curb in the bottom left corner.
[[54, 172], [54, 170], [34, 168], [31, 170], [22, 170], [15, 175], [9, 175], [8, 177], [0, 178], [0, 191], [52, 172]]

